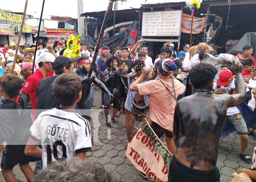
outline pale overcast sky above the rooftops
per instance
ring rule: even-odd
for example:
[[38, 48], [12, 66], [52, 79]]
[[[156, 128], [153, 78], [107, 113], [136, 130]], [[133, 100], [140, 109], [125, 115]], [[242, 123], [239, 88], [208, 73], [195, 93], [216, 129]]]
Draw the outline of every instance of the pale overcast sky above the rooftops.
[[[172, 0], [147, 0], [150, 3], [165, 3]], [[27, 14], [40, 17], [43, 0], [28, 0]], [[83, 0], [84, 12], [106, 10], [109, 0]], [[129, 7], [139, 8], [145, 0], [118, 1], [118, 9], [129, 9]], [[13, 12], [23, 12], [25, 0], [11, 0], [11, 3], [1, 3], [1, 9], [12, 10]], [[43, 18], [49, 19], [50, 15], [69, 16], [77, 18], [77, 0], [45, 0]]]

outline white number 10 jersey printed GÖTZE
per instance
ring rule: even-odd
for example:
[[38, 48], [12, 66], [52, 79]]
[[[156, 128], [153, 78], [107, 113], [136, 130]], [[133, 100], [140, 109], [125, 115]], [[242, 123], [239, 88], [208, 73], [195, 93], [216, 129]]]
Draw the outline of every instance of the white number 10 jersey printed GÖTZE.
[[56, 159], [69, 160], [91, 150], [90, 124], [75, 111], [60, 108], [44, 111], [30, 131], [32, 139], [42, 142], [43, 169]]

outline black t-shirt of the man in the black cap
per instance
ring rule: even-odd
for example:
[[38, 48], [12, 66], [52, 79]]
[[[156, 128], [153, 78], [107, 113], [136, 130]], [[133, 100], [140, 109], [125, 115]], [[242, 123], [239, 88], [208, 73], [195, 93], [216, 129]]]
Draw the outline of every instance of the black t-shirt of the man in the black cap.
[[37, 89], [37, 110], [51, 109], [59, 106], [59, 103], [57, 103], [56, 99], [53, 96], [52, 88], [53, 81], [56, 78], [57, 76], [50, 76], [40, 81]]

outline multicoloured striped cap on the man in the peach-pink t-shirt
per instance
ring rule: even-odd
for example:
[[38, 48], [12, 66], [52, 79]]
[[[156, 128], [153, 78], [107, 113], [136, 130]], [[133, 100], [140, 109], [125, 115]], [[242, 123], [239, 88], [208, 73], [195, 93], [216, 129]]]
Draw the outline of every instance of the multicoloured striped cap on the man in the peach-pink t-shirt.
[[163, 58], [158, 63], [158, 70], [162, 75], [168, 76], [172, 71], [177, 70], [177, 66], [172, 59]]

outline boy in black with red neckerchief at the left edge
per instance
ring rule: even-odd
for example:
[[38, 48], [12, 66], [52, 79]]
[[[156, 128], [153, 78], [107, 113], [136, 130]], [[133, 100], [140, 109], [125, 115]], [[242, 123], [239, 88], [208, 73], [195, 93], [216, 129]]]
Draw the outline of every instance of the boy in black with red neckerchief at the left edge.
[[[1, 161], [2, 174], [5, 181], [17, 181], [12, 169], [19, 164], [27, 181], [31, 182], [34, 173], [29, 166], [30, 157], [25, 155], [25, 143], [29, 138], [29, 128], [32, 120], [27, 108], [28, 98], [26, 95], [19, 95], [22, 88], [22, 80], [12, 74], [0, 77], [0, 93], [4, 97], [0, 106], [0, 143], [7, 142], [3, 150]], [[22, 110], [22, 112], [19, 112]], [[29, 120], [30, 118], [30, 120]]]

